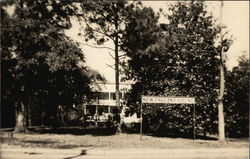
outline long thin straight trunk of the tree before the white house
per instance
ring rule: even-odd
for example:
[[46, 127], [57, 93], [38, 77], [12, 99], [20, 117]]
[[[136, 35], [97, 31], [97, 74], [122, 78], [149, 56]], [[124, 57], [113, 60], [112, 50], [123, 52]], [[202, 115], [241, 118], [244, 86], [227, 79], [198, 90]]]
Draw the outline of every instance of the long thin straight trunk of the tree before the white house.
[[[120, 90], [119, 90], [118, 17], [116, 17], [115, 29], [117, 31], [115, 36], [115, 97], [116, 97], [115, 99], [116, 99], [116, 106], [119, 110], [119, 115], [120, 115], [121, 108], [120, 108]], [[116, 132], [118, 134], [121, 133], [121, 120], [118, 121]]]

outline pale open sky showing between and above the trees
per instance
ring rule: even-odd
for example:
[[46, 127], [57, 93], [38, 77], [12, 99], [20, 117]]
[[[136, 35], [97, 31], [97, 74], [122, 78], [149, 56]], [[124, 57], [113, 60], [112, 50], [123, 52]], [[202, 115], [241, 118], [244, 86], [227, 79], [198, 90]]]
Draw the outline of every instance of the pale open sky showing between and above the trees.
[[[169, 4], [176, 3], [176, 1], [143, 1], [143, 5], [152, 7], [155, 12], [162, 8], [164, 12], [168, 12]], [[206, 1], [207, 11], [214, 16], [215, 19], [219, 18], [220, 2], [219, 1]], [[162, 20], [162, 19], [160, 19]], [[72, 39], [85, 43], [84, 39], [80, 38], [79, 33], [80, 25], [76, 21], [73, 22], [73, 27], [66, 31], [66, 34]], [[243, 52], [249, 57], [249, 2], [248, 1], [224, 1], [222, 9], [222, 24], [227, 28], [229, 35], [233, 36], [233, 44], [228, 50], [226, 66], [232, 69], [238, 64], [237, 59], [243, 55]], [[93, 45], [94, 42], [88, 42]], [[114, 45], [111, 42], [105, 44], [111, 48]], [[109, 49], [96, 49], [86, 45], [81, 46], [85, 58], [86, 65], [101, 73], [108, 82], [115, 81], [115, 71], [108, 65], [114, 65], [114, 59], [109, 55], [114, 54]]]

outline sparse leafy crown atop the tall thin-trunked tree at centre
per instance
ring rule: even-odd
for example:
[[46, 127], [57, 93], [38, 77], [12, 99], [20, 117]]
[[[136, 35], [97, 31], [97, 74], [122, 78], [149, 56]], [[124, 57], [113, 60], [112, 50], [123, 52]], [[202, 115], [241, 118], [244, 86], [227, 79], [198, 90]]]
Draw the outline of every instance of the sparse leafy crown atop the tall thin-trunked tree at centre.
[[[140, 18], [134, 14], [134, 10], [142, 8], [141, 2], [86, 0], [81, 2], [81, 8], [84, 13], [82, 18], [86, 42], [92, 39], [97, 45], [103, 45], [107, 41], [112, 41], [114, 48], [109, 49], [115, 52], [115, 56], [112, 56], [118, 67], [115, 66], [115, 70], [123, 73], [123, 69], [126, 69], [124, 59], [127, 57], [127, 52], [122, 52], [123, 55], [121, 55], [121, 51], [124, 51], [121, 47], [126, 40], [125, 38], [127, 38], [124, 37], [125, 27], [130, 19]], [[119, 67], [119, 65], [122, 67]]]

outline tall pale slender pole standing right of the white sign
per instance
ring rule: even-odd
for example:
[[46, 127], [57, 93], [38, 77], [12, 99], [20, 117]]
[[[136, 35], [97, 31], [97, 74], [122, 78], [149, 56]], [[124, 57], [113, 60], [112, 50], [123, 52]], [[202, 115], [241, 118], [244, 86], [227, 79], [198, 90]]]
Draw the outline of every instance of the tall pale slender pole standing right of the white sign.
[[[222, 7], [223, 1], [220, 4], [220, 24], [222, 25]], [[219, 130], [219, 141], [225, 141], [225, 121], [224, 121], [224, 111], [223, 111], [223, 96], [225, 89], [225, 75], [224, 75], [224, 47], [223, 47], [223, 36], [222, 31], [220, 32], [221, 38], [221, 50], [220, 50], [220, 89], [218, 96], [218, 130]]]

